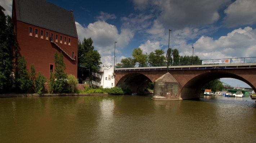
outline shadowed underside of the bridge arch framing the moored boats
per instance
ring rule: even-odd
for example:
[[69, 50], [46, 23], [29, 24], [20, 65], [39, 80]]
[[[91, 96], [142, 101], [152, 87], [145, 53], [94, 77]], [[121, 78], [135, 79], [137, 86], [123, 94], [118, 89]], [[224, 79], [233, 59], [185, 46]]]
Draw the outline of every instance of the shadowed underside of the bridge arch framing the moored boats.
[[246, 75], [236, 75], [232, 72], [225, 71], [217, 71], [217, 72], [207, 72], [202, 73], [192, 79], [190, 79], [181, 89], [180, 97], [182, 99], [196, 98], [199, 97], [200, 90], [206, 85], [208, 82], [215, 80], [217, 78], [235, 78], [237, 80], [241, 80], [252, 87], [253, 90], [256, 90], [255, 86], [253, 86], [254, 79], [246, 76]]

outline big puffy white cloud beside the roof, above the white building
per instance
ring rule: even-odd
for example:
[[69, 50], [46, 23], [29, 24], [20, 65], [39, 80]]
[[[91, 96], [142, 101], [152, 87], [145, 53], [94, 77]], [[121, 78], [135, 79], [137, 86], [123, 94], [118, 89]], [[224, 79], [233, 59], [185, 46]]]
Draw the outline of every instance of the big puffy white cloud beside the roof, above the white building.
[[83, 27], [76, 22], [78, 38], [82, 41], [85, 38], [93, 40], [95, 49], [102, 56], [111, 55], [114, 52], [114, 42], [116, 41], [116, 53], [121, 53], [120, 49], [127, 46], [134, 33], [130, 29], [121, 29], [120, 34], [116, 26], [108, 24], [104, 21], [90, 23], [87, 27]]

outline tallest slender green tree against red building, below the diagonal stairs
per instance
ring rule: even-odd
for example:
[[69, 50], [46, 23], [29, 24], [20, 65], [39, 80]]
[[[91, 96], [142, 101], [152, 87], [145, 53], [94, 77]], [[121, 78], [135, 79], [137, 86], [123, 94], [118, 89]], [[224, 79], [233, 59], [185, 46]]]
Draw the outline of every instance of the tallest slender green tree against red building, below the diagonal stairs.
[[58, 56], [57, 50], [54, 53], [54, 63], [55, 63], [55, 92], [67, 92], [67, 73], [64, 72], [66, 70], [66, 64], [64, 63], [64, 58], [62, 52], [60, 52]]

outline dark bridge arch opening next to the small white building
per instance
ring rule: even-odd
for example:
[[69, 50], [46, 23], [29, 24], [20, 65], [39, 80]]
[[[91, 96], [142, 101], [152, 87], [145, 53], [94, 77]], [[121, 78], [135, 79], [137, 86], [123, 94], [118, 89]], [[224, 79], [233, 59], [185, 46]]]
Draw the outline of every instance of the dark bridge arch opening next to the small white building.
[[142, 73], [128, 73], [117, 82], [116, 86], [130, 89], [133, 93], [142, 93], [151, 80]]

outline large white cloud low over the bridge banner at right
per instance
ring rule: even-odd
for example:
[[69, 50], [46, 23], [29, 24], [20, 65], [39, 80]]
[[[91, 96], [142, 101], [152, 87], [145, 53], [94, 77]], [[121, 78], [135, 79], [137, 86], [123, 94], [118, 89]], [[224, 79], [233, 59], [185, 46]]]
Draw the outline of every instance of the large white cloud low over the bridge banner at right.
[[256, 53], [256, 29], [235, 29], [226, 36], [214, 40], [202, 36], [193, 44], [194, 55], [201, 59], [254, 57]]

